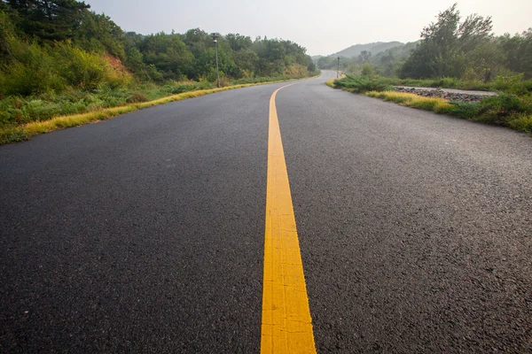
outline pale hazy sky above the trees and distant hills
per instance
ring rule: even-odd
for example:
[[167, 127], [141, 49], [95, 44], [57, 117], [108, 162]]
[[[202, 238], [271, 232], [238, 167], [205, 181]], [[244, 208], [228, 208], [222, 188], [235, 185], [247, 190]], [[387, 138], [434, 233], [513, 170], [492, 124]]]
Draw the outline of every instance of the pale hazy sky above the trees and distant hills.
[[[266, 35], [301, 44], [310, 55], [328, 55], [367, 42], [411, 42], [456, 0], [85, 0], [126, 31], [144, 35], [184, 33], [200, 27], [208, 33]], [[491, 16], [497, 35], [532, 27], [532, 0], [462, 0], [463, 18]]]

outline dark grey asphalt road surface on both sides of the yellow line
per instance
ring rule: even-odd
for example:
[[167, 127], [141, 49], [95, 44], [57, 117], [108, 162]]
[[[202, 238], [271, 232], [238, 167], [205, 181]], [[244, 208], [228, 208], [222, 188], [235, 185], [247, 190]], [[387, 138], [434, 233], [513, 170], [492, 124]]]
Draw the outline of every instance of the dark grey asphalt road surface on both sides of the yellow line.
[[[532, 352], [532, 139], [277, 96], [318, 352]], [[0, 351], [260, 350], [269, 100], [224, 91], [0, 147]]]

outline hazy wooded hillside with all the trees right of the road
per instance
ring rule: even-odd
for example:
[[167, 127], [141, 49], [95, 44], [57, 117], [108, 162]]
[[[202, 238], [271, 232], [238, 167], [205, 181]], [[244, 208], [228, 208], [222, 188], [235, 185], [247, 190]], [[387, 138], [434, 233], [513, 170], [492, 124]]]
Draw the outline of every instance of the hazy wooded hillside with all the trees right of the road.
[[[337, 56], [319, 58], [317, 65], [336, 69]], [[340, 70], [402, 79], [446, 77], [482, 83], [497, 77], [531, 79], [532, 28], [521, 34], [497, 36], [490, 17], [471, 14], [462, 18], [458, 4], [454, 4], [423, 28], [419, 42], [379, 52], [363, 50], [355, 58], [340, 56]]]

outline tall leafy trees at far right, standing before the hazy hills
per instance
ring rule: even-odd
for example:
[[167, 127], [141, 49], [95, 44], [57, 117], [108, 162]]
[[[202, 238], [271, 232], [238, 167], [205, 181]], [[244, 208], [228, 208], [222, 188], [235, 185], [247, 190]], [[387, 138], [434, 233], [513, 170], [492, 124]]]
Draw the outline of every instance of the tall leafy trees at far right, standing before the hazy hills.
[[399, 70], [403, 78], [454, 77], [489, 82], [497, 76], [532, 76], [532, 31], [495, 37], [491, 19], [473, 14], [460, 22], [457, 4], [421, 32], [421, 42]]

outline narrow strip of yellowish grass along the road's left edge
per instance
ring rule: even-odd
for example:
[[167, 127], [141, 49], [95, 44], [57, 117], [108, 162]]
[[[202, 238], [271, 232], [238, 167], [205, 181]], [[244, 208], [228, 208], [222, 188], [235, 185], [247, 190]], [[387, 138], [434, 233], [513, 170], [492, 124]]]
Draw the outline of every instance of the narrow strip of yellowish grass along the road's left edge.
[[172, 96], [166, 96], [148, 102], [127, 104], [119, 107], [106, 108], [94, 112], [86, 112], [82, 114], [73, 114], [66, 116], [58, 116], [44, 121], [29, 122], [18, 127], [0, 127], [0, 145], [22, 142], [30, 139], [32, 136], [49, 133], [54, 130], [64, 129], [66, 127], [77, 127], [83, 124], [95, 122], [98, 120], [110, 119], [119, 116], [123, 113], [133, 112], [144, 108], [153, 107], [158, 104], [168, 104], [169, 102], [182, 101], [187, 98], [205, 96], [215, 92], [227, 91], [230, 89], [241, 89], [251, 86], [263, 85], [267, 83], [293, 81], [280, 80], [257, 83], [244, 83], [239, 85], [228, 86], [220, 89], [200, 89], [197, 91], [183, 92]]

